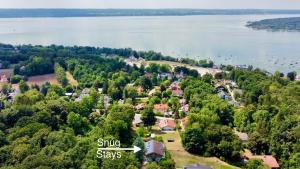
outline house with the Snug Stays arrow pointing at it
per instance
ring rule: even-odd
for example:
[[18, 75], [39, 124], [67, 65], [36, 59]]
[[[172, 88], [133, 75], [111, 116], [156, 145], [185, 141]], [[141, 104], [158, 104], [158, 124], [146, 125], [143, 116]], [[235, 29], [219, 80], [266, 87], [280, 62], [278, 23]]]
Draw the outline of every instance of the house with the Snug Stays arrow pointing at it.
[[145, 143], [145, 157], [148, 162], [159, 162], [165, 158], [165, 146], [155, 140], [150, 140]]

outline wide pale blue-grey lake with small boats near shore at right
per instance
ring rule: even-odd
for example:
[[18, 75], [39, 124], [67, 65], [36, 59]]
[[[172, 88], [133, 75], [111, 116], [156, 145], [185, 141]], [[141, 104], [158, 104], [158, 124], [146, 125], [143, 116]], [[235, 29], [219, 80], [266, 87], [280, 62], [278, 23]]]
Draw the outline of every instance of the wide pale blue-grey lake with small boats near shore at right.
[[2, 18], [0, 42], [154, 50], [173, 57], [300, 73], [300, 32], [269, 32], [247, 21], [299, 15]]

